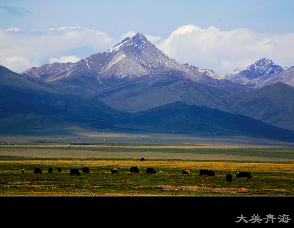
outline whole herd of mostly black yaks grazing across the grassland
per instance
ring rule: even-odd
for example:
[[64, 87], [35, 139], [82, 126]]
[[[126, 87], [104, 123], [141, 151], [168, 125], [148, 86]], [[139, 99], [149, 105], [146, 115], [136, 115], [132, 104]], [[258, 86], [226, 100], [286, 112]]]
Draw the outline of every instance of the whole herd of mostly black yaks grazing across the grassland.
[[[144, 161], [144, 159], [141, 158], [140, 161]], [[57, 171], [60, 173], [60, 172], [61, 172], [61, 168], [58, 167], [58, 168], [57, 168]], [[52, 172], [53, 172], [52, 168], [49, 168], [49, 169], [48, 169], [48, 172], [49, 172], [49, 173], [52, 173]], [[83, 173], [89, 173], [89, 167], [83, 167], [82, 172], [83, 172]], [[139, 173], [138, 167], [134, 167], [134, 166], [132, 166], [132, 167], [130, 168], [130, 172], [131, 172], [131, 173]], [[21, 169], [21, 174], [24, 174], [24, 173], [25, 173], [25, 170], [24, 170], [24, 169]], [[40, 168], [35, 168], [35, 169], [34, 169], [34, 173], [42, 173], [42, 171], [41, 171]], [[113, 168], [113, 169], [111, 169], [111, 173], [118, 173], [118, 169], [117, 169], [117, 168]], [[156, 173], [156, 172], [155, 172], [155, 170], [154, 170], [153, 168], [147, 168], [147, 169], [146, 169], [146, 174], [155, 174], [155, 173]], [[190, 170], [188, 170], [188, 169], [184, 169], [182, 173], [183, 173], [183, 174], [191, 175], [191, 172], [190, 172]], [[81, 173], [79, 172], [78, 169], [71, 169], [71, 170], [69, 171], [69, 174], [70, 174], [71, 176], [72, 176], [72, 175], [77, 175], [77, 176], [80, 176], [80, 175], [81, 175]], [[207, 170], [207, 169], [201, 169], [201, 170], [200, 170], [199, 176], [202, 176], [202, 175], [207, 176], [207, 177], [210, 177], [210, 176], [215, 177], [215, 176], [216, 176], [216, 174], [214, 173], [213, 170]], [[246, 178], [251, 179], [251, 175], [250, 175], [250, 173], [248, 173], [248, 172], [241, 172], [241, 171], [238, 171], [236, 177], [237, 177], [237, 178], [238, 178], [238, 177], [240, 177], [240, 178], [245, 178], [245, 177], [246, 177]], [[226, 179], [227, 182], [232, 182], [232, 181], [233, 181], [233, 177], [232, 177], [231, 174], [227, 174], [226, 177], [225, 177], [225, 179]]]

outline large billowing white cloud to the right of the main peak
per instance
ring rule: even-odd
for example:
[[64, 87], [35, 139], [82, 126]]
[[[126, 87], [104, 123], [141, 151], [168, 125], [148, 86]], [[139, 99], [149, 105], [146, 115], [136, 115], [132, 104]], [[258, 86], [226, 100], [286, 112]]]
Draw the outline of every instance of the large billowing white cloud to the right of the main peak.
[[220, 31], [214, 26], [202, 29], [189, 24], [156, 46], [180, 63], [212, 69], [220, 75], [261, 58], [281, 66], [294, 65], [294, 34], [266, 35], [245, 28]]

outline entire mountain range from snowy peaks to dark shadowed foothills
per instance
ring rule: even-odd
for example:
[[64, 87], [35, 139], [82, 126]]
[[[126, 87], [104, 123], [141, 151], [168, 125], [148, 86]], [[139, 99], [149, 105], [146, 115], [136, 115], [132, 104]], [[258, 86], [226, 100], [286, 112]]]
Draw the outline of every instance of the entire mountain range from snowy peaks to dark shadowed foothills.
[[14, 134], [111, 128], [293, 142], [292, 71], [260, 59], [219, 76], [178, 63], [137, 33], [76, 63], [21, 74], [0, 66], [0, 126]]

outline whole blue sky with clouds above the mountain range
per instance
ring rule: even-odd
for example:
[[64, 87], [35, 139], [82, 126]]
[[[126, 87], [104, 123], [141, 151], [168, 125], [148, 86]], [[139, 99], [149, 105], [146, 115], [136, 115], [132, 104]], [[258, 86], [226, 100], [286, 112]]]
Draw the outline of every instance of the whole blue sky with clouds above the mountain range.
[[78, 61], [143, 33], [222, 75], [261, 58], [294, 65], [294, 1], [0, 1], [0, 65]]

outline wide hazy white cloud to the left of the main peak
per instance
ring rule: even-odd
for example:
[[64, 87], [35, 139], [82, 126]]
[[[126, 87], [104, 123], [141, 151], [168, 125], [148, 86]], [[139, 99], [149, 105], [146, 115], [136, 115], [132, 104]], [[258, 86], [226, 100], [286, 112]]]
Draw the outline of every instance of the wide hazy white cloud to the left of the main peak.
[[[11, 30], [12, 31], [12, 30]], [[39, 33], [11, 33], [0, 30], [0, 65], [20, 73], [52, 61], [76, 62], [91, 54], [108, 50], [115, 39], [105, 32], [83, 27], [49, 28]]]

